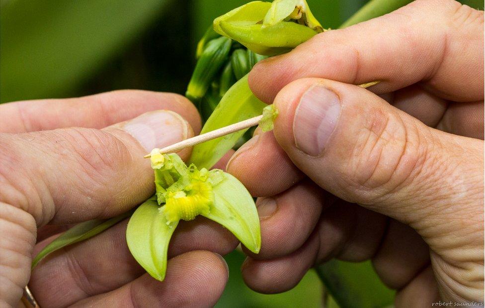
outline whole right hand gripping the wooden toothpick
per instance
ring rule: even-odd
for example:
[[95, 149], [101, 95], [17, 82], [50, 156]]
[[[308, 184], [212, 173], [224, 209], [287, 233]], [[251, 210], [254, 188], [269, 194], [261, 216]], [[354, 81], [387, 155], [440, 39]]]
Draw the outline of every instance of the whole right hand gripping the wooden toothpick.
[[398, 307], [483, 302], [483, 23], [456, 1], [414, 1], [254, 67], [251, 90], [279, 115], [228, 164], [266, 197], [249, 287], [371, 259]]

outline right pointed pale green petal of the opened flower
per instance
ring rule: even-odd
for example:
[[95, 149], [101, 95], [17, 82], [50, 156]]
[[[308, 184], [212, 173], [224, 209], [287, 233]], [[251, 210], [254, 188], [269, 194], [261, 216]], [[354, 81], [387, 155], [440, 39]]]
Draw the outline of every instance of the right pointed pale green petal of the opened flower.
[[[258, 253], [261, 248], [259, 218], [249, 192], [229, 173], [220, 171], [222, 181], [212, 187], [214, 204], [203, 216], [214, 220], [231, 231], [247, 249]], [[211, 174], [212, 176], [212, 174]]]

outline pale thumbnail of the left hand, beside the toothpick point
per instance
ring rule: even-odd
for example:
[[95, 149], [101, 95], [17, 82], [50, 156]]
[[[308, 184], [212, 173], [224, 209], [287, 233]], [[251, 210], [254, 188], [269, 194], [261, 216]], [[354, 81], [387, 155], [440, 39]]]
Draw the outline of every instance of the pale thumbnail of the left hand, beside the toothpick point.
[[147, 151], [163, 148], [187, 138], [187, 122], [177, 113], [157, 110], [127, 121], [121, 129], [128, 132]]

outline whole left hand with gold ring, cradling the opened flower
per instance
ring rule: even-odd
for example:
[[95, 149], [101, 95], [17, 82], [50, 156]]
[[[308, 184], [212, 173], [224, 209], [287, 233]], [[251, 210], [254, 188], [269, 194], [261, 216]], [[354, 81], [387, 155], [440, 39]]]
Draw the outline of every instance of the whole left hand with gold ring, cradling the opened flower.
[[200, 118], [189, 101], [116, 91], [7, 103], [0, 114], [2, 307], [17, 306], [29, 278], [41, 307], [216, 303], [228, 277], [219, 254], [238, 241], [201, 216], [177, 227], [163, 282], [146, 274], [128, 251], [127, 220], [54, 253], [30, 273], [32, 256], [55, 237], [36, 244], [36, 234], [42, 239], [60, 231], [46, 225], [112, 217], [154, 194], [153, 171], [143, 155], [199, 132]]

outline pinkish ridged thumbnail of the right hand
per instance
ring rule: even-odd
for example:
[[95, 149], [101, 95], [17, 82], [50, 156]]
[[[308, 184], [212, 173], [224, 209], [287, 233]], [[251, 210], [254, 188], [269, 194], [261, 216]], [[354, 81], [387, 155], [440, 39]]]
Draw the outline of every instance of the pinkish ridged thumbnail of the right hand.
[[340, 99], [331, 90], [315, 85], [300, 99], [293, 119], [297, 148], [318, 156], [333, 133], [340, 115]]

